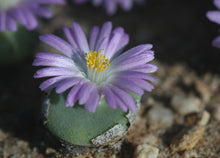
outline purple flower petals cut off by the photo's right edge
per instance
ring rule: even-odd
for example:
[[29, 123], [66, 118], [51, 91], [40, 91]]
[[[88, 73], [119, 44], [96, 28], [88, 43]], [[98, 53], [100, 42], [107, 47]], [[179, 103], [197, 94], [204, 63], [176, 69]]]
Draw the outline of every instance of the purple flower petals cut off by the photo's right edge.
[[[214, 0], [214, 5], [220, 9], [220, 0]], [[211, 20], [212, 22], [215, 22], [220, 25], [220, 10], [217, 11], [208, 11], [206, 14], [207, 18]], [[212, 41], [212, 45], [214, 47], [220, 48], [220, 36], [216, 37]]]

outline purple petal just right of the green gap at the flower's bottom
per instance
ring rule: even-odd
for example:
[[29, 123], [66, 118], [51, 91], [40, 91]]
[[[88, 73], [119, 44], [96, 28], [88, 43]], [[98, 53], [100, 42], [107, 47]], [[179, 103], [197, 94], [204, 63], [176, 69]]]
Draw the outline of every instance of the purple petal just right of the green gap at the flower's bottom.
[[105, 96], [105, 101], [108, 104], [109, 107], [116, 109], [117, 104], [115, 101], [115, 95], [113, 94], [112, 90], [108, 87], [102, 87], [101, 93]]

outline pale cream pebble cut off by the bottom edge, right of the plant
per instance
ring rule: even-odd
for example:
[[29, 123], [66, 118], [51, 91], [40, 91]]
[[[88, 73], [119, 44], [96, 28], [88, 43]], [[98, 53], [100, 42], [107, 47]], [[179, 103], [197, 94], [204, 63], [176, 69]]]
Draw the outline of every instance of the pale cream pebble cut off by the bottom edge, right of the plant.
[[134, 157], [135, 158], [157, 158], [159, 149], [147, 144], [138, 145]]

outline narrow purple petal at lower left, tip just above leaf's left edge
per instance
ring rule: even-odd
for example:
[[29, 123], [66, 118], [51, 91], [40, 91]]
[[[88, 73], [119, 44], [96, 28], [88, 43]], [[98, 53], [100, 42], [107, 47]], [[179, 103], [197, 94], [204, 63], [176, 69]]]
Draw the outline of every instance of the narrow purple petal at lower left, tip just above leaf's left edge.
[[47, 91], [47, 90], [50, 90], [54, 87], [57, 86], [57, 84], [63, 80], [67, 78], [66, 76], [58, 76], [58, 77], [53, 77], [53, 78], [50, 78], [44, 82], [42, 82], [39, 86], [39, 88], [42, 90], [42, 91]]

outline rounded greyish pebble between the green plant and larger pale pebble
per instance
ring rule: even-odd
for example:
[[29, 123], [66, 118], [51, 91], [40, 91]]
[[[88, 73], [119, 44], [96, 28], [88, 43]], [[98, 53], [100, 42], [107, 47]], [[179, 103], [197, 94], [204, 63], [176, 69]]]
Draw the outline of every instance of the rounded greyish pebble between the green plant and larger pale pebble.
[[148, 112], [147, 121], [152, 128], [169, 127], [173, 124], [174, 116], [170, 109], [155, 106]]

